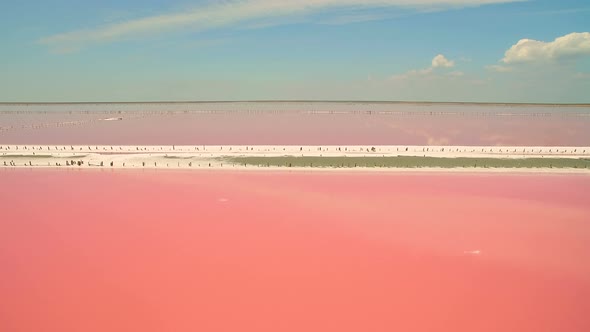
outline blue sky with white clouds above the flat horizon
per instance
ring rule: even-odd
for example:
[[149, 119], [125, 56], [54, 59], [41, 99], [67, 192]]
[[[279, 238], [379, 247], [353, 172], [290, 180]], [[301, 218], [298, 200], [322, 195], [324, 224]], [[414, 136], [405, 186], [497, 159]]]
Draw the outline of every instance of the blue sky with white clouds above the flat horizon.
[[10, 1], [0, 101], [590, 103], [584, 0]]

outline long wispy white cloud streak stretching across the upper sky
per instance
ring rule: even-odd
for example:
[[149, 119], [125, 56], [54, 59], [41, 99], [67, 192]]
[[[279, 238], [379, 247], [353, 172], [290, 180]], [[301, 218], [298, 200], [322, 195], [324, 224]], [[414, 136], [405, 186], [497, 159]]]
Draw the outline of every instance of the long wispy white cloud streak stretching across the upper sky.
[[523, 0], [226, 0], [179, 13], [148, 16], [60, 33], [42, 38], [39, 42], [51, 47], [63, 47], [64, 44], [77, 47], [182, 28], [206, 30], [269, 18], [306, 15], [331, 8], [348, 9], [352, 12], [358, 9], [390, 7], [428, 10], [517, 1]]

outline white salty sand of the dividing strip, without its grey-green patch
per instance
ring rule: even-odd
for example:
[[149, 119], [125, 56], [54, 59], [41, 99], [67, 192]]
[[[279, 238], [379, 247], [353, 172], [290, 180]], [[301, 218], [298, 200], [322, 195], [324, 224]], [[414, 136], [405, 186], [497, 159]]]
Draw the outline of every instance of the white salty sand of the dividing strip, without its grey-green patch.
[[[100, 168], [100, 169], [210, 169], [293, 172], [471, 172], [471, 173], [579, 173], [588, 168], [564, 167], [300, 167], [249, 164], [240, 158], [484, 158], [525, 160], [580, 160], [590, 158], [590, 147], [497, 147], [497, 146], [0, 146], [0, 168]], [[358, 159], [356, 159], [358, 160]], [[469, 159], [467, 159], [469, 160]], [[372, 161], [371, 161], [372, 162]], [[372, 165], [371, 165], [372, 166]]]

